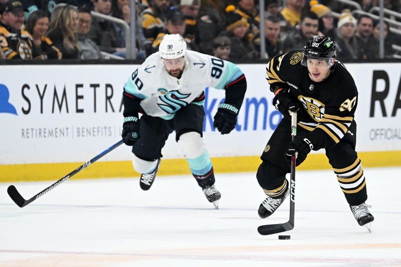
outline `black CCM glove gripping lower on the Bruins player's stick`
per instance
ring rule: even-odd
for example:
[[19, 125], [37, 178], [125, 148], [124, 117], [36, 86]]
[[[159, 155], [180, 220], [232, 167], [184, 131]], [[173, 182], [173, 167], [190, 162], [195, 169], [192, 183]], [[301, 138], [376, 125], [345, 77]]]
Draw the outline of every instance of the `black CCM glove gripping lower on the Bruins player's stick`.
[[311, 138], [307, 136], [305, 133], [300, 133], [295, 136], [294, 140], [287, 147], [287, 151], [285, 152], [285, 159], [287, 160], [287, 165], [291, 167], [291, 157], [298, 152], [297, 159], [295, 161], [295, 165], [298, 166], [305, 159], [309, 152], [313, 149], [313, 142]]

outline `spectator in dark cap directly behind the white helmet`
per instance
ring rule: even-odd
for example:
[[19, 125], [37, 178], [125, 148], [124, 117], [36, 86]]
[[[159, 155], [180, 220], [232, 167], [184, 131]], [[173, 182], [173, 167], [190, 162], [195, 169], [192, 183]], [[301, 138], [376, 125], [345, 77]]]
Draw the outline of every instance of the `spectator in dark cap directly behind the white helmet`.
[[161, 40], [163, 40], [163, 37], [166, 34], [179, 34], [182, 36], [186, 42], [186, 48], [188, 50], [195, 50], [196, 51], [196, 46], [194, 42], [192, 42], [191, 38], [188, 38], [184, 35], [185, 33], [185, 19], [184, 16], [180, 11], [173, 10], [167, 15], [167, 21], [166, 21], [166, 29], [164, 30], [163, 33], [159, 33], [154, 40], [152, 44], [152, 49], [153, 53], [158, 51], [159, 45], [161, 43]]

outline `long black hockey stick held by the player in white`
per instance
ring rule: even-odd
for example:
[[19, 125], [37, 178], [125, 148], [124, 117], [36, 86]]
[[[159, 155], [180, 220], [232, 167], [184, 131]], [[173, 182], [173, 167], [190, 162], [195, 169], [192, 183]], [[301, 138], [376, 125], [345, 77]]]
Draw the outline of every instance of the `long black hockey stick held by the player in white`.
[[62, 182], [67, 181], [69, 178], [71, 178], [71, 176], [73, 176], [73, 175], [77, 174], [78, 172], [82, 171], [83, 169], [85, 169], [86, 167], [88, 167], [89, 165], [94, 163], [96, 160], [100, 159], [101, 157], [103, 157], [104, 155], [106, 155], [107, 153], [112, 151], [114, 148], [116, 148], [119, 145], [121, 145], [122, 143], [123, 143], [123, 140], [118, 141], [117, 143], [115, 143], [111, 147], [109, 147], [106, 150], [104, 150], [99, 155], [95, 156], [93, 159], [85, 162], [83, 165], [79, 166], [78, 168], [76, 168], [75, 170], [73, 170], [72, 172], [70, 172], [69, 174], [67, 174], [66, 176], [64, 176], [63, 178], [61, 178], [60, 180], [58, 180], [57, 182], [52, 184], [51, 186], [49, 186], [46, 189], [42, 190], [40, 193], [34, 195], [30, 199], [27, 199], [27, 200], [24, 199], [24, 197], [22, 197], [22, 195], [18, 192], [17, 188], [14, 185], [10, 185], [9, 188], [7, 189], [7, 192], [9, 193], [11, 199], [13, 199], [13, 201], [19, 207], [25, 207], [26, 205], [28, 205], [32, 201], [38, 199], [40, 196], [43, 196], [44, 194], [46, 194], [50, 190], [54, 189], [56, 186], [60, 185]]

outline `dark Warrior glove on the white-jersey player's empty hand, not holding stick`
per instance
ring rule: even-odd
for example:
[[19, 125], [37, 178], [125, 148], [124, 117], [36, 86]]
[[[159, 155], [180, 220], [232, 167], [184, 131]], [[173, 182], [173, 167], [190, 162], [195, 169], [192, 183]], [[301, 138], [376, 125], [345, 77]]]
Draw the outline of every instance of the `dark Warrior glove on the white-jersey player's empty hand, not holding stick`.
[[230, 133], [237, 124], [238, 108], [233, 105], [220, 103], [214, 117], [213, 127], [222, 134]]

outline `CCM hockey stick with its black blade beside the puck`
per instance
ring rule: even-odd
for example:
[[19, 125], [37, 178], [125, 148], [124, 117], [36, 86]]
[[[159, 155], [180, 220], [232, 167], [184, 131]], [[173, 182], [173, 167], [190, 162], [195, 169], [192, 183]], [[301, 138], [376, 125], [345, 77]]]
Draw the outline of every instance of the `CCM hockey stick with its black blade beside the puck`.
[[[294, 140], [297, 135], [297, 113], [291, 112], [291, 139]], [[295, 213], [295, 159], [296, 153], [291, 157], [291, 195], [290, 195], [290, 218], [285, 223], [266, 224], [258, 227], [258, 232], [263, 235], [281, 233], [294, 229], [294, 213]]]

